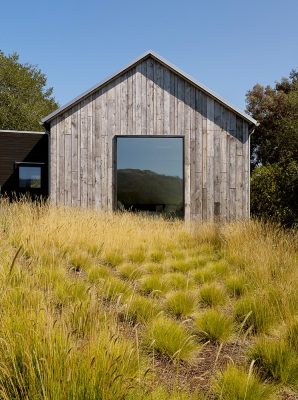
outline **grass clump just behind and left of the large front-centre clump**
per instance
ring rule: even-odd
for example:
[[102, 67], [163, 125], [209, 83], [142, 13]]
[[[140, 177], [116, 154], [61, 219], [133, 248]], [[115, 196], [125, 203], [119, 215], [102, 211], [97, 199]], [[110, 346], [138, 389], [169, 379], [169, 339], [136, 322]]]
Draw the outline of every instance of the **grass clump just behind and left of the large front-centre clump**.
[[124, 304], [124, 315], [130, 322], [145, 323], [161, 312], [160, 305], [154, 299], [134, 294]]

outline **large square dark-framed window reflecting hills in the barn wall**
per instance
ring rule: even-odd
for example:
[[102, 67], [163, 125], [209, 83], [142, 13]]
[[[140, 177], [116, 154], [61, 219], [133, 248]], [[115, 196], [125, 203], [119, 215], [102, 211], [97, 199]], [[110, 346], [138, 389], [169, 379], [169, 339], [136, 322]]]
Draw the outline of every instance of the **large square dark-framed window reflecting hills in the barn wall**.
[[183, 138], [117, 138], [117, 207], [183, 217]]

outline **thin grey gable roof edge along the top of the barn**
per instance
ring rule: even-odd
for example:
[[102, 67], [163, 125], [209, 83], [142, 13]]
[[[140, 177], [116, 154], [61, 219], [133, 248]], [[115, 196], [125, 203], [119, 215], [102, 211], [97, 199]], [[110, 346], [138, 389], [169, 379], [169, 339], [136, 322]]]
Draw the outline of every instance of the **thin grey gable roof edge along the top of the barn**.
[[86, 92], [80, 94], [79, 96], [75, 97], [73, 100], [69, 101], [68, 103], [66, 103], [62, 107], [58, 108], [56, 111], [53, 111], [51, 114], [49, 114], [46, 117], [44, 117], [41, 120], [42, 124], [49, 123], [57, 115], [59, 115], [62, 112], [66, 111], [67, 109], [71, 108], [76, 103], [80, 102], [82, 99], [88, 97], [90, 94], [92, 94], [96, 90], [100, 89], [101, 87], [103, 87], [104, 85], [109, 83], [110, 81], [114, 80], [115, 78], [117, 78], [118, 76], [122, 75], [123, 73], [125, 73], [129, 69], [133, 68], [136, 64], [138, 64], [138, 63], [140, 63], [140, 62], [142, 62], [142, 61], [144, 61], [144, 60], [146, 60], [147, 58], [150, 58], [150, 57], [153, 58], [154, 60], [158, 61], [163, 66], [165, 66], [166, 68], [168, 68], [169, 70], [171, 70], [172, 72], [174, 72], [175, 74], [180, 76], [181, 78], [185, 79], [186, 81], [188, 81], [192, 85], [196, 86], [199, 90], [205, 92], [207, 95], [211, 96], [212, 98], [217, 100], [219, 103], [221, 103], [225, 107], [229, 108], [231, 111], [233, 111], [236, 114], [238, 114], [239, 116], [241, 116], [243, 119], [245, 119], [250, 124], [253, 124], [253, 125], [257, 125], [258, 124], [258, 122], [254, 118], [252, 118], [250, 115], [248, 115], [245, 112], [243, 112], [243, 111], [237, 109], [236, 107], [232, 106], [229, 102], [224, 100], [222, 97], [218, 96], [212, 90], [208, 89], [206, 86], [204, 86], [203, 84], [198, 82], [196, 79], [192, 78], [190, 75], [186, 74], [185, 72], [183, 72], [182, 70], [177, 68], [175, 65], [171, 64], [169, 61], [165, 60], [164, 58], [162, 58], [161, 56], [159, 56], [158, 54], [156, 54], [155, 52], [153, 52], [151, 50], [147, 51], [145, 54], [143, 54], [142, 56], [140, 56], [139, 58], [137, 58], [136, 60], [134, 60], [130, 64], [126, 65], [124, 68], [121, 68], [120, 71], [118, 71], [115, 74], [107, 77], [106, 79], [104, 79], [103, 81], [99, 82], [98, 84], [96, 84], [95, 86], [93, 86], [92, 88], [87, 90]]

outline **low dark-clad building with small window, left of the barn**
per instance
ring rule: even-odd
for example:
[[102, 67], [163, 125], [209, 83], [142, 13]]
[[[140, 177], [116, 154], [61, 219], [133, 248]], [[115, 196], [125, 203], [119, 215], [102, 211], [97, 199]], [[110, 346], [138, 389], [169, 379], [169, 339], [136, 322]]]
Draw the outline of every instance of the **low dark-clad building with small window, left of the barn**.
[[48, 195], [48, 135], [0, 130], [0, 193], [10, 198]]

